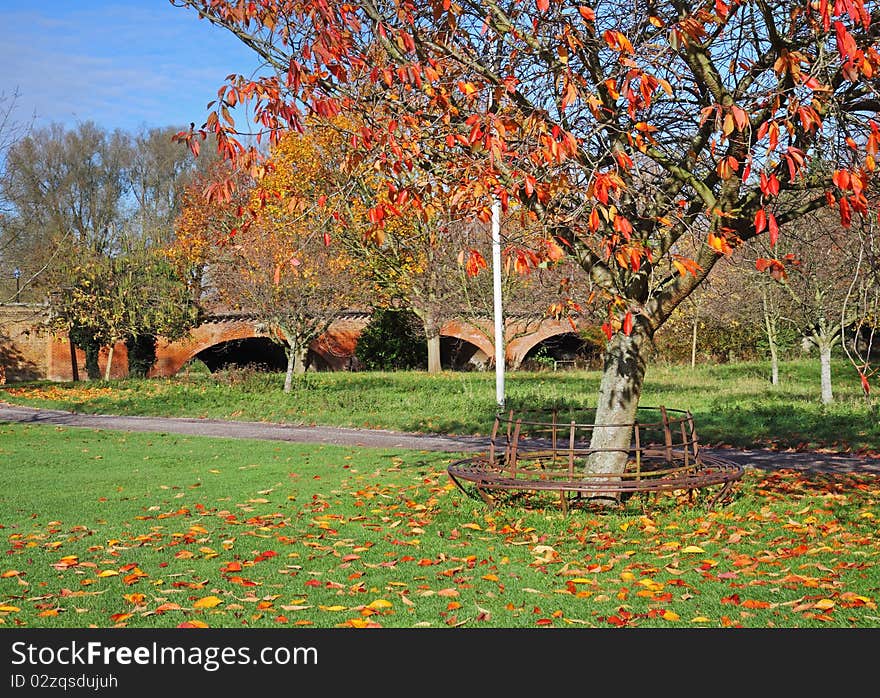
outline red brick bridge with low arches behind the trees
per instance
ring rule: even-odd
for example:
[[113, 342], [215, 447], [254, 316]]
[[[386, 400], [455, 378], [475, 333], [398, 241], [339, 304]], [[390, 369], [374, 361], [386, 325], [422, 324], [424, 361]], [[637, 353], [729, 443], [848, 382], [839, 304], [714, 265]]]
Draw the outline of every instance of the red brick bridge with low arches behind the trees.
[[[8, 382], [49, 379], [64, 381], [72, 377], [70, 345], [63, 336], [53, 336], [39, 329], [48, 316], [45, 305], [0, 305], [0, 380]], [[308, 362], [313, 370], [350, 370], [356, 368], [354, 349], [357, 338], [369, 321], [369, 314], [349, 312], [338, 318], [329, 330], [312, 342]], [[444, 368], [481, 369], [493, 363], [492, 318], [453, 320], [441, 330], [441, 362]], [[508, 318], [505, 324], [506, 357], [510, 368], [541, 348], [546, 355], [571, 364], [575, 358], [589, 358], [589, 343], [572, 329], [568, 320]], [[85, 356], [77, 350], [82, 372]], [[107, 351], [102, 350], [100, 366], [106, 367]], [[156, 365], [151, 376], [172, 376], [194, 359], [209, 369], [224, 365], [262, 364], [281, 369], [284, 352], [271, 341], [252, 317], [236, 313], [218, 313], [193, 329], [184, 339], [160, 340]], [[113, 350], [110, 375], [121, 378], [128, 371], [124, 344]]]

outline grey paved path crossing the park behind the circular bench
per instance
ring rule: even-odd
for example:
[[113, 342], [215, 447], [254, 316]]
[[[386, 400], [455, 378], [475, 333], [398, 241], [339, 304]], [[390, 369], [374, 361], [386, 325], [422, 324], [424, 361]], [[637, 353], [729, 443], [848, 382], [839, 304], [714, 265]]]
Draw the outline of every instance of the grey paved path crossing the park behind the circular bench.
[[[183, 417], [126, 417], [76, 414], [0, 403], [0, 422], [51, 424], [88, 429], [165, 432], [231, 439], [267, 439], [297, 443], [322, 443], [370, 448], [405, 448], [423, 451], [462, 453], [485, 450], [488, 437], [408, 434], [382, 429], [293, 426], [265, 422], [238, 422]], [[872, 472], [880, 474], [880, 459], [846, 453], [771, 451], [769, 449], [704, 448], [748, 467], [767, 470], [791, 468], [815, 472]]]

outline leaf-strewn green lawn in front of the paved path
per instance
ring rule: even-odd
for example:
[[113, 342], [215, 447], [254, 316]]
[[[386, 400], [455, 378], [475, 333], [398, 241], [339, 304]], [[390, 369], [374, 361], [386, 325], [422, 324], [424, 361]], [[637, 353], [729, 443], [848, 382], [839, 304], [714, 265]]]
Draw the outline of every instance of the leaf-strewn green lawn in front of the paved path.
[[876, 476], [565, 517], [449, 458], [0, 425], [0, 625], [880, 627]]

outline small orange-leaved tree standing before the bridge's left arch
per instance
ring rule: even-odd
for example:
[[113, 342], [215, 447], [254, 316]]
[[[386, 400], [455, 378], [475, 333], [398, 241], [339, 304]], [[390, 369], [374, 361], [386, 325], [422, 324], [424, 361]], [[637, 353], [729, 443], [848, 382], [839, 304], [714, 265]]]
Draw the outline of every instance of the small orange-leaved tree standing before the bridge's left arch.
[[365, 297], [344, 249], [329, 244], [338, 223], [305, 203], [321, 186], [320, 155], [312, 139], [282, 139], [236, 217], [221, 208], [208, 219], [220, 225], [207, 257], [212, 288], [226, 307], [253, 314], [284, 345], [284, 392], [293, 374], [305, 371], [309, 345]]

